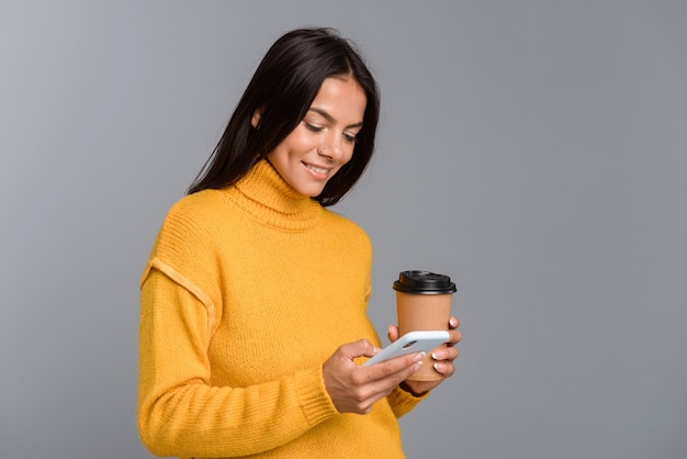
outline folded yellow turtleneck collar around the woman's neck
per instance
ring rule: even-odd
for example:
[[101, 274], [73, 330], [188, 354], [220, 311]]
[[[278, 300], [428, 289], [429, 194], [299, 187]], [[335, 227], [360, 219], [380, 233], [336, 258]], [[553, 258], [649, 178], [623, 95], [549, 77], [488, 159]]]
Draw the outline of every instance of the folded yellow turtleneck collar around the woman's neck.
[[293, 189], [274, 167], [261, 159], [226, 195], [255, 220], [286, 231], [305, 231], [317, 224], [323, 206]]

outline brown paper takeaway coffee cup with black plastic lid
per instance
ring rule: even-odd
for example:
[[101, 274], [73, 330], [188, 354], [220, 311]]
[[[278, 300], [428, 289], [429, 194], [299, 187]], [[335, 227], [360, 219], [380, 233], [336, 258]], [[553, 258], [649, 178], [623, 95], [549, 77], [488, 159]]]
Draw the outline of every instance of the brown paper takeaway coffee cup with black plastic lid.
[[[450, 277], [429, 271], [403, 271], [398, 280], [394, 281], [394, 290], [401, 336], [415, 331], [449, 329], [451, 302], [455, 293], [455, 283], [451, 282]], [[423, 367], [408, 379], [441, 379], [432, 363], [428, 355]]]

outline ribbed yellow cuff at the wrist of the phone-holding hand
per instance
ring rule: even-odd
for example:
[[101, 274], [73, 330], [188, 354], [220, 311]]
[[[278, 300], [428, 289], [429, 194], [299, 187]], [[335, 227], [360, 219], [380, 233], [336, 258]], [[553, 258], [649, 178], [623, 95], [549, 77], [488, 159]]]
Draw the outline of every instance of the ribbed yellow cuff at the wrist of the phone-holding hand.
[[299, 403], [311, 426], [339, 414], [325, 389], [322, 369], [296, 372], [295, 388]]

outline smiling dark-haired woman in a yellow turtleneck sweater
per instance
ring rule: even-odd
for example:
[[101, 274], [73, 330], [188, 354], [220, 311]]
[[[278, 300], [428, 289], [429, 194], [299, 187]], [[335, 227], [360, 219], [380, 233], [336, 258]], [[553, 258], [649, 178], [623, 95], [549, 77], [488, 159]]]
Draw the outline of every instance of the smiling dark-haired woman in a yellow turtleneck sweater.
[[[326, 209], [364, 170], [379, 96], [330, 30], [279, 38], [142, 277], [138, 428], [180, 457], [403, 457], [397, 418], [439, 382], [379, 351], [372, 249]], [[460, 340], [437, 352], [443, 379]], [[390, 339], [398, 336], [390, 327]]]

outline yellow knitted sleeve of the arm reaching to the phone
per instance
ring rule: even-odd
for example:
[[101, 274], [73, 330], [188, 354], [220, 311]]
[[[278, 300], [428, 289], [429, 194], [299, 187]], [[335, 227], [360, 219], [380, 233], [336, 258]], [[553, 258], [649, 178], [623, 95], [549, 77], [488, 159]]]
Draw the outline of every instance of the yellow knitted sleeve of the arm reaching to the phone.
[[206, 355], [210, 322], [206, 305], [189, 289], [155, 266], [147, 271], [142, 289], [138, 428], [151, 452], [257, 454], [338, 414], [318, 368], [254, 387], [213, 387]]

